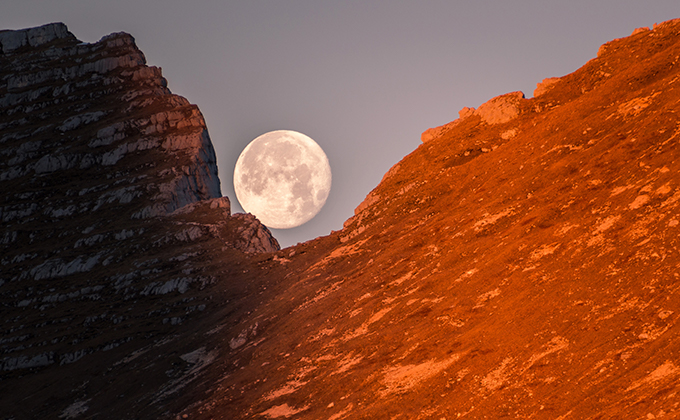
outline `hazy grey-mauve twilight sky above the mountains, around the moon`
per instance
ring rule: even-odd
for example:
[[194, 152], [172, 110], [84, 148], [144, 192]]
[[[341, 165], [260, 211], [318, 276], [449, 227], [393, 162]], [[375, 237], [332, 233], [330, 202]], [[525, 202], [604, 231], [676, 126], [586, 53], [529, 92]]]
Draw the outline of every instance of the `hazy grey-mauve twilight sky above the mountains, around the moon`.
[[64, 22], [80, 40], [132, 34], [199, 106], [222, 193], [241, 150], [289, 129], [326, 152], [333, 186], [282, 247], [342, 228], [420, 134], [494, 96], [563, 76], [599, 46], [680, 17], [678, 0], [0, 0], [0, 29]]

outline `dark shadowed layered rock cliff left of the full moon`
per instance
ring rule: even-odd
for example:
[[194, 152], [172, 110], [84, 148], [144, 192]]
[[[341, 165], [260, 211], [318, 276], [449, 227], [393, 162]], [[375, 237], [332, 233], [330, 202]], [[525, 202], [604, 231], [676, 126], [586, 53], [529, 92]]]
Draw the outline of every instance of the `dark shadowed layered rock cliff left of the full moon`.
[[203, 116], [132, 36], [56, 23], [1, 31], [0, 52], [0, 412], [56, 418], [119, 346], [206, 316], [224, 267], [278, 244], [230, 215]]

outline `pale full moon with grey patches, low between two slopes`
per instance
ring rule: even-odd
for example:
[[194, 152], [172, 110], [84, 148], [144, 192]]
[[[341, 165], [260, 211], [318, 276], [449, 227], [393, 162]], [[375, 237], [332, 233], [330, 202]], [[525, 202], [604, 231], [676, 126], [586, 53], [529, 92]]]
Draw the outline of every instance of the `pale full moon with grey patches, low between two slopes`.
[[311, 220], [326, 203], [331, 167], [311, 138], [297, 131], [270, 131], [241, 152], [234, 190], [243, 210], [265, 226], [289, 229]]

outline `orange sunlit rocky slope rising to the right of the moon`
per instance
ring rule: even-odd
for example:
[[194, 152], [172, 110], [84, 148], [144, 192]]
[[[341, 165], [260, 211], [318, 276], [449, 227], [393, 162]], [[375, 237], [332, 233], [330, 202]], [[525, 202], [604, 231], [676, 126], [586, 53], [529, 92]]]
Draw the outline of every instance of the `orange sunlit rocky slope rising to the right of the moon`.
[[428, 130], [342, 231], [262, 263], [182, 414], [678, 418], [679, 113], [670, 21]]

